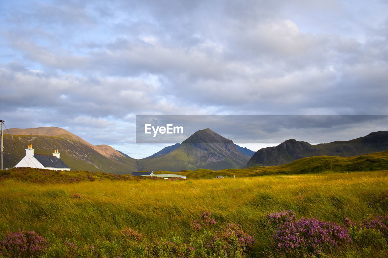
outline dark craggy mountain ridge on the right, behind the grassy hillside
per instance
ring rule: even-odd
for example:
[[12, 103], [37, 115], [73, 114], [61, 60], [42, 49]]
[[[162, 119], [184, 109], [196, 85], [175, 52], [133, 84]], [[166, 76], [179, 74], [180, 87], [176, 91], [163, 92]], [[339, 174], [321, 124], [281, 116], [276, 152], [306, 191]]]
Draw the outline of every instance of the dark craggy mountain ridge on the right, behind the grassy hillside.
[[333, 141], [312, 145], [289, 139], [275, 147], [262, 148], [251, 157], [245, 168], [283, 165], [312, 156], [350, 157], [388, 150], [388, 131], [371, 132], [350, 141]]

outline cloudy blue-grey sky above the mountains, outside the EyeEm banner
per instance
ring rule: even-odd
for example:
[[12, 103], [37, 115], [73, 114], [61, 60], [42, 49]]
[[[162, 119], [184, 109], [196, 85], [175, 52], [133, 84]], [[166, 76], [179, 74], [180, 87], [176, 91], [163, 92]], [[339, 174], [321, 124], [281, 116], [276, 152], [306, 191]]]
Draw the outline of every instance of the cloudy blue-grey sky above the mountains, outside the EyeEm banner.
[[[0, 119], [143, 158], [169, 144], [136, 144], [136, 115], [386, 115], [387, 37], [387, 0], [0, 1]], [[378, 120], [219, 131], [255, 151]]]

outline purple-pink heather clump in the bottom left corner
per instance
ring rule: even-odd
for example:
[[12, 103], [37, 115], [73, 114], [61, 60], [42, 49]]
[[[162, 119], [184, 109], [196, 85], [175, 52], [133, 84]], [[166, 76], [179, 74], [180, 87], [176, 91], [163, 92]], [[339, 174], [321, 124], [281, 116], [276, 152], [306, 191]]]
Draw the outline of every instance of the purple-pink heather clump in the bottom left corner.
[[0, 243], [0, 255], [30, 257], [47, 249], [47, 241], [35, 231], [8, 232]]

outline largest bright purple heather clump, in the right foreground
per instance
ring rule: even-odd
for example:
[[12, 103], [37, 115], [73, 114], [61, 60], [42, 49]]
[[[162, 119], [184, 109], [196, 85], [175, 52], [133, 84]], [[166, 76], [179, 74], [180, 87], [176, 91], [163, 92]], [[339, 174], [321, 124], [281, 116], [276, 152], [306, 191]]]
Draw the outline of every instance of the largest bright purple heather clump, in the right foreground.
[[348, 230], [336, 223], [301, 218], [280, 225], [271, 246], [282, 253], [318, 254], [339, 248], [351, 240]]

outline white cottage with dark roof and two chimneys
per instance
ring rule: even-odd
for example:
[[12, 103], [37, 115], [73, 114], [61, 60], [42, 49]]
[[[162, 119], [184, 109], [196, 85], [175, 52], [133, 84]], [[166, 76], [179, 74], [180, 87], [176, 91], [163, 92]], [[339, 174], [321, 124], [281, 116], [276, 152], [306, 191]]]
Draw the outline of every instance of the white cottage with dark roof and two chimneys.
[[68, 165], [66, 165], [60, 158], [60, 153], [58, 150], [55, 150], [50, 155], [44, 154], [34, 154], [34, 149], [32, 144], [28, 145], [26, 149], [26, 156], [16, 164], [15, 167], [33, 167], [36, 169], [50, 169], [50, 170], [70, 170]]

